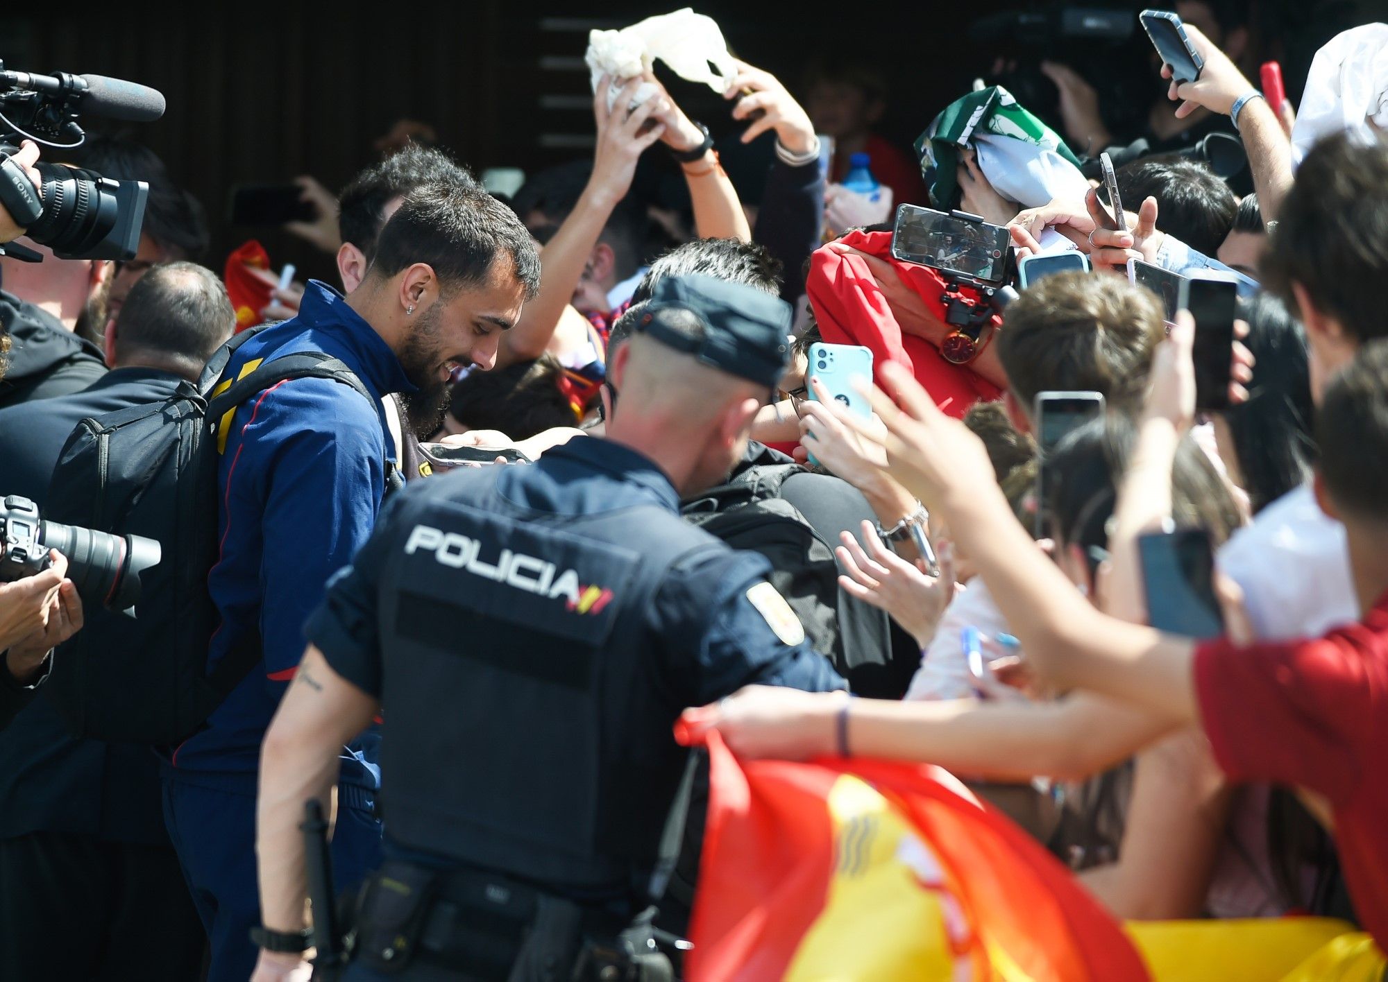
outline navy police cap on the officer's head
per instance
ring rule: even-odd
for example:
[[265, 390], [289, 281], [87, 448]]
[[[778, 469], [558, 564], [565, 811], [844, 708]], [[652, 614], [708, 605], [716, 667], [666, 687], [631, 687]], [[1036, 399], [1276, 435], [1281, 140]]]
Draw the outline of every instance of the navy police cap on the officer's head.
[[[690, 337], [688, 316], [704, 329], [702, 338]], [[636, 331], [770, 390], [790, 359], [790, 304], [780, 297], [688, 275], [666, 276], [655, 284]]]

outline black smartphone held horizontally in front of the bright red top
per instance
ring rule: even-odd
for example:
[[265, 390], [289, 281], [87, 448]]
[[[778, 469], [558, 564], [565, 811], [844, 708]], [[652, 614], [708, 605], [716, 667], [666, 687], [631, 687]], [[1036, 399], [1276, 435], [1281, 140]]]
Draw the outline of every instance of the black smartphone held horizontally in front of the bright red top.
[[959, 273], [992, 286], [1006, 283], [1016, 268], [1012, 234], [1005, 226], [962, 211], [947, 215], [919, 205], [897, 209], [891, 254], [902, 262]]

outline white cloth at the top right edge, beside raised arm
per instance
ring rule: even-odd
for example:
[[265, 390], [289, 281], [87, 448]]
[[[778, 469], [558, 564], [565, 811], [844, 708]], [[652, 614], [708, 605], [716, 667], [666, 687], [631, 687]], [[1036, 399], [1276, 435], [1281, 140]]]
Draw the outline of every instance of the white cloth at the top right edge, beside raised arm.
[[1342, 130], [1373, 140], [1370, 122], [1388, 130], [1388, 24], [1344, 31], [1316, 53], [1292, 126], [1292, 161]]

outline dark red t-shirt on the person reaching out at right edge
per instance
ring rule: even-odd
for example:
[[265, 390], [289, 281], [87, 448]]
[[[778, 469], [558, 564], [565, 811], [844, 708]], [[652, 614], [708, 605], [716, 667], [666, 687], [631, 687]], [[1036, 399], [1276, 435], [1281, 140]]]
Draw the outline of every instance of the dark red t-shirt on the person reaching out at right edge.
[[1388, 950], [1388, 594], [1317, 641], [1201, 645], [1195, 694], [1231, 779], [1330, 800], [1355, 911]]

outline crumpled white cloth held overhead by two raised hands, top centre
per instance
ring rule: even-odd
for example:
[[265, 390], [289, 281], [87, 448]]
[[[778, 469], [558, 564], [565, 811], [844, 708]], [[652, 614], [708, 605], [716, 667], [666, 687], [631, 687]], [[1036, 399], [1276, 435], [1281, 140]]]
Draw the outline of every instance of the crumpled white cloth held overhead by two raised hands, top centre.
[[[640, 76], [657, 58], [686, 82], [702, 82], [719, 94], [737, 75], [737, 65], [727, 53], [718, 21], [695, 14], [688, 7], [673, 14], [648, 17], [620, 31], [590, 31], [589, 50], [583, 57], [593, 72], [594, 93], [604, 75], [611, 79], [608, 108], [612, 108], [622, 86]], [[640, 105], [655, 92], [654, 85], [644, 82], [632, 98], [632, 107]]]

